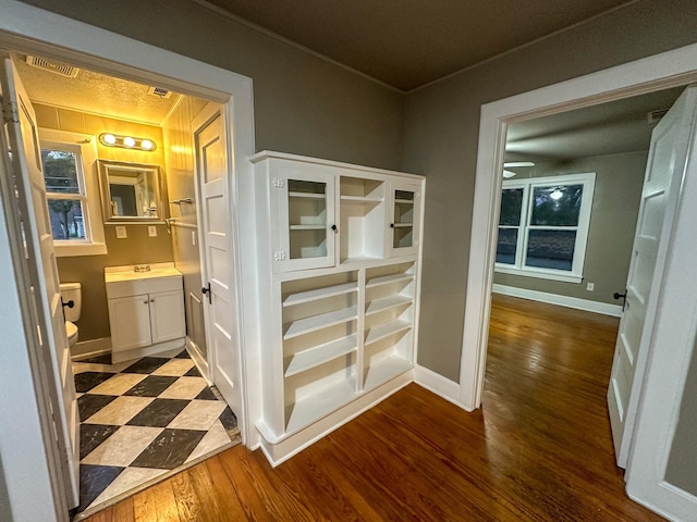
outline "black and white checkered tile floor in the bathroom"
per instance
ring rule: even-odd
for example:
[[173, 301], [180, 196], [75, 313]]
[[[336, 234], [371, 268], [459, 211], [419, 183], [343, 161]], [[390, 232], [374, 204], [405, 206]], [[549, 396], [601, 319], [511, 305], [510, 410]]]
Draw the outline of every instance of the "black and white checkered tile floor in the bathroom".
[[240, 442], [232, 410], [189, 359], [109, 356], [73, 363], [81, 419], [81, 505], [129, 490]]

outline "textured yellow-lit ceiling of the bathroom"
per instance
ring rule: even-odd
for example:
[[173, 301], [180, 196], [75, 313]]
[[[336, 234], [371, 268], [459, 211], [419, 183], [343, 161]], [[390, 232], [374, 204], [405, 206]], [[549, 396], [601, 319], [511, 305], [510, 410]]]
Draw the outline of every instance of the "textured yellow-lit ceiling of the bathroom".
[[180, 97], [172, 94], [162, 99], [148, 95], [147, 85], [84, 69], [76, 78], [69, 78], [27, 65], [24, 55], [13, 58], [29, 99], [38, 103], [161, 125]]

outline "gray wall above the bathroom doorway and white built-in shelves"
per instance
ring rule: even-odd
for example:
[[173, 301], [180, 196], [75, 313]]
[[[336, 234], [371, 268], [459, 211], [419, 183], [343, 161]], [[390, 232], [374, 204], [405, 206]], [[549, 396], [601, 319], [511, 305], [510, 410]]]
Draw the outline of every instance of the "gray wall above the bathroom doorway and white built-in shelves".
[[400, 94], [192, 1], [25, 3], [252, 77], [257, 150], [400, 167]]

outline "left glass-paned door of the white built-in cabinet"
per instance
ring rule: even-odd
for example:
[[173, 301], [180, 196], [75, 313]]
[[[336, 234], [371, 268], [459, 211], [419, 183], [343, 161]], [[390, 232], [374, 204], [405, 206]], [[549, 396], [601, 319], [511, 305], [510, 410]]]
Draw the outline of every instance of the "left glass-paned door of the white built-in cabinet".
[[282, 272], [333, 266], [334, 176], [298, 172], [272, 182], [280, 196], [277, 265]]

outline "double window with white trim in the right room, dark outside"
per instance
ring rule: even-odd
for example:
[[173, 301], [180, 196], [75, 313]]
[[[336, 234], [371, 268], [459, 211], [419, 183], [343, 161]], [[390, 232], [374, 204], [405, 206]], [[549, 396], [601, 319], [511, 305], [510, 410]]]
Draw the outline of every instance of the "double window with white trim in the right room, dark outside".
[[583, 279], [596, 174], [503, 182], [496, 271]]

